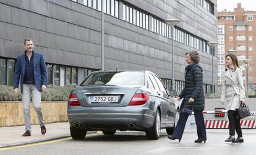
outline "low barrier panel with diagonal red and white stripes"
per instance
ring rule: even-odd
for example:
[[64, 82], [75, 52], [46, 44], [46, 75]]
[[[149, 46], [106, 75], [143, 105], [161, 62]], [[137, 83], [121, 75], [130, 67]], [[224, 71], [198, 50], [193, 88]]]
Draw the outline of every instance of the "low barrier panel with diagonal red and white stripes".
[[[241, 128], [256, 128], [256, 120], [241, 120]], [[205, 128], [229, 128], [228, 120], [205, 120]]]

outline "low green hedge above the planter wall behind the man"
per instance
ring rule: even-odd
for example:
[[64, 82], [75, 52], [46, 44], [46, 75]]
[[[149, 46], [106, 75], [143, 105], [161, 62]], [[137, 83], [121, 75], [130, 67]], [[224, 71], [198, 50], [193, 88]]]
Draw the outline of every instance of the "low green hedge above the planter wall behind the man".
[[[42, 93], [42, 101], [67, 101], [76, 85], [48, 86]], [[12, 86], [0, 86], [0, 101], [22, 101], [22, 94], [14, 94]]]

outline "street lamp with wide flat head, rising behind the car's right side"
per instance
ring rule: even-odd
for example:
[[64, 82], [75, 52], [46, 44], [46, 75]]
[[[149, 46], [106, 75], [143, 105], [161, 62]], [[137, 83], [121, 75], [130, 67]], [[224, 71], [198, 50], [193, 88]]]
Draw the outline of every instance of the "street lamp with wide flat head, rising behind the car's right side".
[[171, 89], [174, 89], [174, 26], [177, 25], [181, 20], [179, 19], [167, 19], [164, 20], [171, 27]]

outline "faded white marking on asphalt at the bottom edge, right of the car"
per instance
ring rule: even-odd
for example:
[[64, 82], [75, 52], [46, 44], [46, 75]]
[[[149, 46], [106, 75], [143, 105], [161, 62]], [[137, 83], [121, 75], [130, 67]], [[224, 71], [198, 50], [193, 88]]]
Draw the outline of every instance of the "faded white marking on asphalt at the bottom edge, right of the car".
[[210, 149], [213, 149], [213, 148], [201, 148], [201, 147], [161, 147], [161, 148], [157, 148], [157, 149], [151, 149], [150, 151], [147, 151], [146, 153], [164, 153], [166, 151], [169, 151], [169, 150], [190, 150], [190, 151], [208, 151]]

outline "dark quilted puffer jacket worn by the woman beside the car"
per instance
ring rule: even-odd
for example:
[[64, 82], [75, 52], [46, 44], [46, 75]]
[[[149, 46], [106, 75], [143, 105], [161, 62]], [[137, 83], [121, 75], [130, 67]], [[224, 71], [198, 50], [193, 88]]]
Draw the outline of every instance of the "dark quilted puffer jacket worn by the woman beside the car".
[[[179, 94], [180, 98], [184, 98], [181, 109], [186, 106], [193, 111], [203, 111], [205, 109], [203, 70], [198, 64], [190, 64], [185, 68], [185, 72], [185, 87]], [[194, 103], [189, 103], [189, 98], [194, 98]]]

